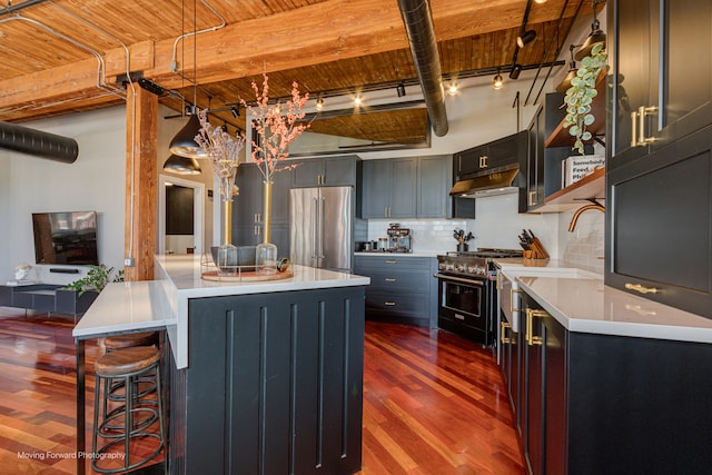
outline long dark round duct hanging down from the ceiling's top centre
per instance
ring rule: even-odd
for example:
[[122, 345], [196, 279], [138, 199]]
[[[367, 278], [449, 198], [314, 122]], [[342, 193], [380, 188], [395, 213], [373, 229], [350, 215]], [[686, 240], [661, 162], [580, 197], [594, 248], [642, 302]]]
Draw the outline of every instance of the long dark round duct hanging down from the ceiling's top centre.
[[408, 33], [411, 55], [418, 71], [433, 132], [443, 137], [447, 133], [447, 111], [431, 4], [427, 0], [398, 0], [398, 8]]

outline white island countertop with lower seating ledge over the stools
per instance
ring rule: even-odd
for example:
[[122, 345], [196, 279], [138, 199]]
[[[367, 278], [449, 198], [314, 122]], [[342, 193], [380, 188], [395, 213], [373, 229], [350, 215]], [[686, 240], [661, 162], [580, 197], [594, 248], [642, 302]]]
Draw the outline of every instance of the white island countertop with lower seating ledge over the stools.
[[75, 326], [76, 338], [98, 338], [117, 333], [165, 328], [178, 368], [188, 366], [188, 300], [317, 288], [366, 286], [368, 277], [290, 266], [284, 280], [225, 283], [202, 279], [214, 270], [200, 265], [201, 256], [157, 256], [156, 280], [109, 284]]

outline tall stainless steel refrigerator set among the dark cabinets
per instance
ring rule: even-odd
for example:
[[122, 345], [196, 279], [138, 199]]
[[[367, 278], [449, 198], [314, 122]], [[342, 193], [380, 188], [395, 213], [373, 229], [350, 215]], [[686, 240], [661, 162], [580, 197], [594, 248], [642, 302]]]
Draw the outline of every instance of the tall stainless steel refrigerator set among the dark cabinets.
[[294, 188], [289, 198], [291, 261], [350, 273], [354, 258], [354, 189]]

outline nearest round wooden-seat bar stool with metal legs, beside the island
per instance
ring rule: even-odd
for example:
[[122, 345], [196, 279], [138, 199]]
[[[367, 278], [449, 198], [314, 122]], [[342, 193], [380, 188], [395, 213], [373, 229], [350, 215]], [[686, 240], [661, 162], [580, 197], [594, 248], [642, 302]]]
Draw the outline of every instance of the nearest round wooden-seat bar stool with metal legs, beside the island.
[[[93, 402], [93, 434], [91, 438], [91, 468], [99, 473], [115, 474], [134, 469], [149, 462], [164, 448], [164, 413], [161, 404], [160, 387], [160, 353], [155, 347], [137, 346], [117, 349], [107, 353], [97, 359], [96, 369], [96, 392]], [[155, 372], [156, 377], [156, 400], [137, 398], [134, 395], [136, 380]], [[125, 398], [122, 410], [106, 414], [106, 399], [108, 397], [107, 385], [101, 382], [108, 380], [109, 387], [115, 380], [121, 380], [125, 387]], [[103, 392], [100, 388], [103, 387]], [[99, 423], [99, 399], [103, 398], [105, 413], [102, 422]], [[115, 419], [123, 418], [122, 425], [111, 425]], [[150, 431], [154, 423], [158, 420], [159, 432]], [[97, 447], [98, 437], [108, 442], [101, 447]], [[131, 442], [152, 437], [158, 439], [158, 447], [148, 456], [139, 461], [131, 459]], [[115, 451], [113, 447], [123, 444], [123, 453]], [[123, 457], [123, 465], [117, 467], [112, 461]]]

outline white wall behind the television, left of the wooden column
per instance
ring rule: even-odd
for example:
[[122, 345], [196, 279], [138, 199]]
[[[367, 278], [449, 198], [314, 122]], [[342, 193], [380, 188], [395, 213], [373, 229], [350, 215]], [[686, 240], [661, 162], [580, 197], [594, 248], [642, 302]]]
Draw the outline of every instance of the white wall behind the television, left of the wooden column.
[[[2, 166], [2, 221], [0, 283], [14, 276], [21, 263], [33, 266], [29, 278], [66, 284], [77, 275], [50, 274], [34, 265], [31, 215], [36, 211], [96, 210], [99, 260], [123, 267], [123, 196], [126, 174], [126, 113], [110, 108], [79, 115], [24, 122], [22, 126], [71, 137], [79, 156], [71, 165], [0, 150]], [[86, 271], [86, 267], [78, 266]]]

